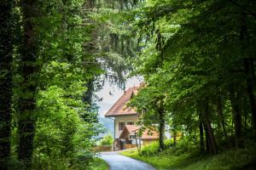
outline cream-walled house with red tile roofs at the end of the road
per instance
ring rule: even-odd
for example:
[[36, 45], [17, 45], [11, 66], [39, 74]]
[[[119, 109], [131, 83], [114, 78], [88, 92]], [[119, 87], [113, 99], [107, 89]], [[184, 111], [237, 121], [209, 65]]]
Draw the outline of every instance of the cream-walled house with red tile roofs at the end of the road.
[[139, 135], [141, 127], [137, 126], [139, 115], [136, 110], [127, 106], [132, 96], [137, 94], [139, 87], [128, 88], [118, 101], [105, 114], [114, 120], [113, 150], [124, 150], [136, 147], [138, 144], [150, 144], [159, 139], [154, 129], [144, 129]]

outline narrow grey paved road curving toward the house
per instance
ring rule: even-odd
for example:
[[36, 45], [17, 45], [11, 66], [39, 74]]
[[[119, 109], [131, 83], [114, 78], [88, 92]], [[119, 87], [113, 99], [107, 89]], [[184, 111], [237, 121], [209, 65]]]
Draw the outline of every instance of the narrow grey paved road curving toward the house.
[[108, 162], [109, 170], [155, 170], [154, 167], [143, 161], [137, 161], [118, 152], [102, 152], [101, 158]]

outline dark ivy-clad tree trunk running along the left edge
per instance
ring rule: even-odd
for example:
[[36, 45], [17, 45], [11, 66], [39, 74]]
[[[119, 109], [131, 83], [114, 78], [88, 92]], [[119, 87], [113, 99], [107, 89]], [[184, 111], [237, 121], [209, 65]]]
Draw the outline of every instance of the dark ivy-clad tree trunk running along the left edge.
[[11, 97], [13, 39], [12, 39], [12, 9], [14, 1], [0, 2], [0, 164], [3, 169], [6, 159], [10, 155], [10, 124], [11, 124]]

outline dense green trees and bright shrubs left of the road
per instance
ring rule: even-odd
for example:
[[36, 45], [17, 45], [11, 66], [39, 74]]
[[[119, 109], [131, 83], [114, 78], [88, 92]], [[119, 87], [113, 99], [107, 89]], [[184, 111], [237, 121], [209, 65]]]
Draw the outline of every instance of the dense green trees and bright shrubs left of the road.
[[91, 50], [100, 24], [88, 3], [1, 1], [1, 169], [91, 167], [102, 132], [94, 82], [113, 68], [114, 81], [124, 83], [125, 68], [114, 70]]

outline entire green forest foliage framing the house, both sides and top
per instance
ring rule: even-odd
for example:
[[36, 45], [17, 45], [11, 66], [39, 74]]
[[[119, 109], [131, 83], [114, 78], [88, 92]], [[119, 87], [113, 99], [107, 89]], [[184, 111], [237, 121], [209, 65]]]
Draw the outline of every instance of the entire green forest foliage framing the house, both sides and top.
[[106, 78], [125, 88], [131, 70], [145, 84], [130, 105], [143, 126], [158, 124], [158, 151], [166, 127], [174, 148], [185, 141], [218, 154], [255, 144], [255, 8], [250, 0], [2, 0], [2, 169], [81, 160], [89, 168], [101, 129], [94, 92]]

